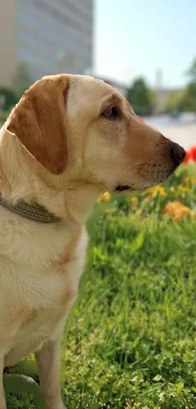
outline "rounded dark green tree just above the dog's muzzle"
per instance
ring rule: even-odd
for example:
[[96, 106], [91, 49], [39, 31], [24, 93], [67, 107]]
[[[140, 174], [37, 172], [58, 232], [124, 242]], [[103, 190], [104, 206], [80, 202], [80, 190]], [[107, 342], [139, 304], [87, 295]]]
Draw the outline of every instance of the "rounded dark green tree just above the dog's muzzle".
[[137, 115], [150, 115], [155, 105], [155, 93], [145, 80], [136, 78], [127, 91], [127, 99]]

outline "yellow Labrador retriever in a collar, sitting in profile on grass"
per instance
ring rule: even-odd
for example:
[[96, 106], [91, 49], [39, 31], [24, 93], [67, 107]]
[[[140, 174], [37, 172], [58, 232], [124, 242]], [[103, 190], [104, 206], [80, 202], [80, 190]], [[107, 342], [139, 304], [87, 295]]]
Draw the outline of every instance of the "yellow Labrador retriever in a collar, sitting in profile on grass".
[[30, 352], [46, 407], [65, 408], [60, 344], [93, 204], [162, 182], [184, 157], [101, 80], [49, 76], [25, 92], [0, 131], [0, 409], [3, 367]]

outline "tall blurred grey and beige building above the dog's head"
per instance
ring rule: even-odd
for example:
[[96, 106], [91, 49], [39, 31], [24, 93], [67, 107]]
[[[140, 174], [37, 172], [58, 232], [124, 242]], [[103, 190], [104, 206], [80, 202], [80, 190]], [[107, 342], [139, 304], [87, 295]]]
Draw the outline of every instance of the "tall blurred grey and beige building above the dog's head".
[[93, 0], [0, 1], [0, 83], [20, 62], [34, 80], [92, 66]]

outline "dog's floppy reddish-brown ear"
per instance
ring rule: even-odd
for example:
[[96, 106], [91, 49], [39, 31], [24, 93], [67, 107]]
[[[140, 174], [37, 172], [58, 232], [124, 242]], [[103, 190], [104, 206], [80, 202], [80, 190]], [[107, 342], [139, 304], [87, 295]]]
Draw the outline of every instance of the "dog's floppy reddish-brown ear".
[[68, 164], [66, 103], [69, 75], [48, 76], [32, 85], [10, 114], [7, 130], [46, 169], [61, 174]]

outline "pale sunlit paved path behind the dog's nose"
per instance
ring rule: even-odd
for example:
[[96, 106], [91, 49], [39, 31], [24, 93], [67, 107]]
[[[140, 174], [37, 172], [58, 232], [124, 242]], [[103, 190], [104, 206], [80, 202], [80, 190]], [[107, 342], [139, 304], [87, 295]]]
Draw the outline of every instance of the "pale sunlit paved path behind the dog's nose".
[[145, 120], [149, 125], [159, 129], [164, 136], [178, 142], [184, 149], [196, 146], [196, 118], [193, 115], [186, 114], [178, 120], [167, 116]]

